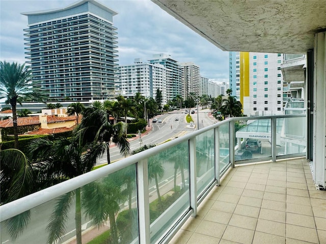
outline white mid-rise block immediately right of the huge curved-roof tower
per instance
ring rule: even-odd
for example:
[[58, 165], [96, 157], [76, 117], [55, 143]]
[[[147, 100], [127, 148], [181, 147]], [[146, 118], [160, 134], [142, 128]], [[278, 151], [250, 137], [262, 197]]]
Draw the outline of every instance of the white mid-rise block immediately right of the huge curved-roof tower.
[[155, 98], [159, 89], [162, 104], [167, 103], [167, 69], [163, 65], [143, 63], [141, 58], [135, 58], [133, 65], [119, 66], [119, 80], [124, 97], [140, 93], [146, 98]]

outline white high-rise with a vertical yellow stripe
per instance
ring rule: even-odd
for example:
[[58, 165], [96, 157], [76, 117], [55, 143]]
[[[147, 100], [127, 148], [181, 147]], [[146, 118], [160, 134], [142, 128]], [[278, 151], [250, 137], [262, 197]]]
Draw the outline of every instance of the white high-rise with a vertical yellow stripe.
[[233, 90], [233, 64], [235, 63], [235, 87], [236, 92], [239, 90], [238, 98], [242, 104], [243, 113], [247, 115], [283, 113], [281, 71], [283, 54], [235, 52], [229, 54], [229, 57], [232, 63], [230, 86], [232, 85]]

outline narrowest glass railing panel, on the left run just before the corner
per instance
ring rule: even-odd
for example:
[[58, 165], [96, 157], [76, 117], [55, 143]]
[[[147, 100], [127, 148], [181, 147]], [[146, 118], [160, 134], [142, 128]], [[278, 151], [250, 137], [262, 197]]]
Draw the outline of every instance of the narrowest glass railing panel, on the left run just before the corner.
[[230, 164], [230, 129], [229, 124], [220, 126], [220, 173]]

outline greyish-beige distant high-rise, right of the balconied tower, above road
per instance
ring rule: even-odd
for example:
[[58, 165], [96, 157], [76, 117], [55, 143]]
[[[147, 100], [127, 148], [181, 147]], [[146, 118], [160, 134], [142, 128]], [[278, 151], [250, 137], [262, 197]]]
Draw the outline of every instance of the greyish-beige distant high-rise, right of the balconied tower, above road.
[[189, 93], [201, 96], [199, 66], [192, 62], [179, 63], [179, 65], [182, 98], [186, 99]]

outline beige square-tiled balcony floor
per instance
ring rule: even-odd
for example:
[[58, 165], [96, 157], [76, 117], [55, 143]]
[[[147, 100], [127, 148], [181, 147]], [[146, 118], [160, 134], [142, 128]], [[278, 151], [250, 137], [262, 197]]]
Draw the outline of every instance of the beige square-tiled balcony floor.
[[326, 243], [326, 191], [305, 159], [235, 167], [170, 243]]

